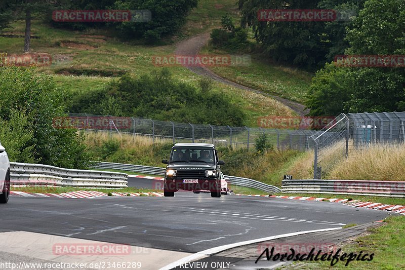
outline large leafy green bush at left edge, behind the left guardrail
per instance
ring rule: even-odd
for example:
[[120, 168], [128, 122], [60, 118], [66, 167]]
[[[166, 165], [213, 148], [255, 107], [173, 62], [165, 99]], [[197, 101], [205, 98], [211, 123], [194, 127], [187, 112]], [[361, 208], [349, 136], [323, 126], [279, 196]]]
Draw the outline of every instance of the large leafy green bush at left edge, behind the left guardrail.
[[53, 118], [65, 116], [66, 91], [58, 89], [51, 76], [38, 75], [33, 69], [0, 67], [0, 81], [0, 115], [4, 124], [0, 134], [12, 159], [87, 168], [90, 159], [84, 135], [75, 129], [52, 126]]

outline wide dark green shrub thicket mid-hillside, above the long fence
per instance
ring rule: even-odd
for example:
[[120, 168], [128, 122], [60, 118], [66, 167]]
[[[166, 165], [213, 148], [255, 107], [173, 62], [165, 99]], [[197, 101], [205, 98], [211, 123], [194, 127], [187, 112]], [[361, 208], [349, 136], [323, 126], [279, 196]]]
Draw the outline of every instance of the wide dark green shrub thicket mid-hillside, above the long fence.
[[[212, 83], [203, 82], [203, 87], [208, 91]], [[71, 111], [111, 114], [114, 110], [115, 113], [121, 113], [116, 110], [120, 108], [122, 116], [126, 117], [136, 115], [160, 121], [242, 125], [245, 114], [231, 104], [229, 97], [205, 90], [197, 91], [189, 84], [172, 79], [168, 69], [164, 68], [140, 78], [126, 74], [118, 81], [111, 82], [104, 90], [75, 98]]]

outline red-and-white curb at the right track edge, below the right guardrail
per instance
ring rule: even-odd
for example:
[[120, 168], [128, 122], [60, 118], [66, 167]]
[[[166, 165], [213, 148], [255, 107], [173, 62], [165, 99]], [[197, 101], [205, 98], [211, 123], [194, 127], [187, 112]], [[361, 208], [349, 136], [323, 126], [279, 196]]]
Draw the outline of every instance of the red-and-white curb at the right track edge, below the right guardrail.
[[[260, 195], [255, 195], [260, 196]], [[267, 195], [266, 195], [267, 197]], [[326, 198], [316, 198], [316, 197], [300, 197], [300, 196], [269, 196], [272, 198], [281, 198], [281, 199], [290, 199], [290, 200], [304, 200], [304, 201], [329, 201], [333, 203], [345, 203], [353, 207], [362, 207], [377, 209], [383, 211], [391, 211], [394, 213], [400, 213], [405, 215], [405, 206], [403, 205], [389, 205], [389, 204], [380, 204], [380, 203], [371, 203], [371, 202], [362, 202], [360, 200], [350, 200], [349, 199], [326, 199]]]

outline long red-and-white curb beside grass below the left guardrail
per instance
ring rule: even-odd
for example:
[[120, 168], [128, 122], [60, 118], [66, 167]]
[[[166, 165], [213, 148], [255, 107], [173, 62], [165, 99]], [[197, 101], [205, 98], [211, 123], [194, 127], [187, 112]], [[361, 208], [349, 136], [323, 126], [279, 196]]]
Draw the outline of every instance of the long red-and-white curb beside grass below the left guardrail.
[[[112, 196], [152, 196], [152, 197], [163, 197], [163, 192], [139, 192], [139, 193], [128, 193], [128, 192], [111, 192]], [[66, 193], [53, 194], [53, 193], [30, 193], [23, 191], [10, 191], [12, 197], [42, 197], [42, 198], [70, 198], [70, 199], [93, 199], [101, 196], [108, 196], [104, 192], [100, 191], [70, 191]]]

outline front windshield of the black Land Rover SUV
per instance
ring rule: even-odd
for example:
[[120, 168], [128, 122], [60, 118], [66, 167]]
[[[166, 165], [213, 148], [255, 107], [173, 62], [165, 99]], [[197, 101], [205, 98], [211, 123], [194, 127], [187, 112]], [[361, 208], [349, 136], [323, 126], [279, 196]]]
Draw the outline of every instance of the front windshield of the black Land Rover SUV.
[[172, 150], [170, 163], [173, 162], [201, 162], [215, 163], [215, 153], [212, 148], [178, 147]]

